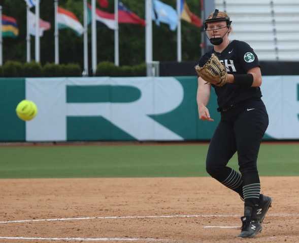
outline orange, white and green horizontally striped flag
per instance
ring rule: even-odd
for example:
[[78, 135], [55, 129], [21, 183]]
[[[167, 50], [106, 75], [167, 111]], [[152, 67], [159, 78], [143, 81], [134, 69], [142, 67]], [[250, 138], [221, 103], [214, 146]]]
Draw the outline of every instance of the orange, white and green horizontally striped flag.
[[84, 31], [84, 28], [76, 15], [60, 7], [57, 8], [57, 23], [59, 29], [71, 28], [78, 35], [81, 35]]

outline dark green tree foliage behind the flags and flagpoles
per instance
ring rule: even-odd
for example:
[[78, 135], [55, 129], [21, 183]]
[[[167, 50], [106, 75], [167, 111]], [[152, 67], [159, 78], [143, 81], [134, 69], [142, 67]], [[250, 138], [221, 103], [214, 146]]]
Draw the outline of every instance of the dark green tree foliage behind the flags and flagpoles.
[[[88, 1], [90, 2], [90, 1]], [[132, 12], [145, 19], [144, 0], [122, 0]], [[176, 9], [176, 0], [162, 0]], [[200, 16], [200, 1], [186, 0], [190, 10]], [[83, 23], [82, 0], [59, 0], [59, 6], [72, 11]], [[19, 36], [3, 38], [4, 61], [26, 61], [26, 5], [23, 0], [2, 0], [3, 14], [17, 19]], [[98, 7], [98, 6], [97, 6]], [[98, 7], [99, 8], [99, 7]], [[31, 9], [35, 11], [34, 8]], [[113, 13], [114, 1], [103, 11]], [[40, 39], [41, 63], [54, 62], [54, 1], [40, 0], [40, 17], [51, 23], [51, 29]], [[182, 59], [197, 60], [200, 55], [201, 29], [185, 21], [182, 23]], [[35, 37], [31, 36], [31, 59], [35, 58]], [[88, 56], [91, 63], [91, 26], [88, 27]], [[136, 65], [145, 62], [145, 28], [135, 24], [119, 25], [120, 65]], [[83, 35], [77, 36], [71, 29], [59, 30], [60, 63], [78, 63], [83, 67]], [[177, 31], [171, 31], [167, 24], [156, 26], [153, 22], [153, 60], [177, 60]], [[114, 62], [114, 31], [104, 25], [97, 25], [97, 61]]]

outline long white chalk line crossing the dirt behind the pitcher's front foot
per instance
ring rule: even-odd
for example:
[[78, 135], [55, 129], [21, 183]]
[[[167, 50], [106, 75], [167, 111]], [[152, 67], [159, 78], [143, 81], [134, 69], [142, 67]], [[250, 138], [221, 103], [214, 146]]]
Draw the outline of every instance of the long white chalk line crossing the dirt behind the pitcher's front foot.
[[[106, 217], [81, 217], [81, 218], [59, 218], [59, 219], [28, 219], [28, 220], [10, 220], [0, 221], [0, 224], [8, 223], [25, 223], [25, 222], [41, 222], [41, 221], [70, 221], [70, 220], [88, 220], [88, 219], [150, 219], [150, 218], [230, 218], [240, 217], [240, 215], [160, 215], [160, 216], [106, 216]], [[269, 214], [268, 217], [299, 217], [299, 214]]]

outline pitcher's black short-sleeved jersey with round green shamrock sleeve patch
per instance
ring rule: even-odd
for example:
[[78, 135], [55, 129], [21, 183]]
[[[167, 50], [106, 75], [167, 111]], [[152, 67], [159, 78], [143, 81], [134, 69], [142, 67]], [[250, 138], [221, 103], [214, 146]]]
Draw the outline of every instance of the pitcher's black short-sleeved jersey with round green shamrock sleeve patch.
[[[202, 56], [200, 61], [198, 61], [198, 65], [201, 67], [204, 66], [212, 53], [225, 65], [228, 74], [246, 74], [249, 69], [259, 66], [256, 54], [245, 42], [232, 41], [221, 53], [215, 52], [213, 49]], [[259, 87], [247, 88], [229, 83], [222, 87], [212, 86], [217, 95], [219, 108], [229, 107], [245, 100], [261, 97]]]

